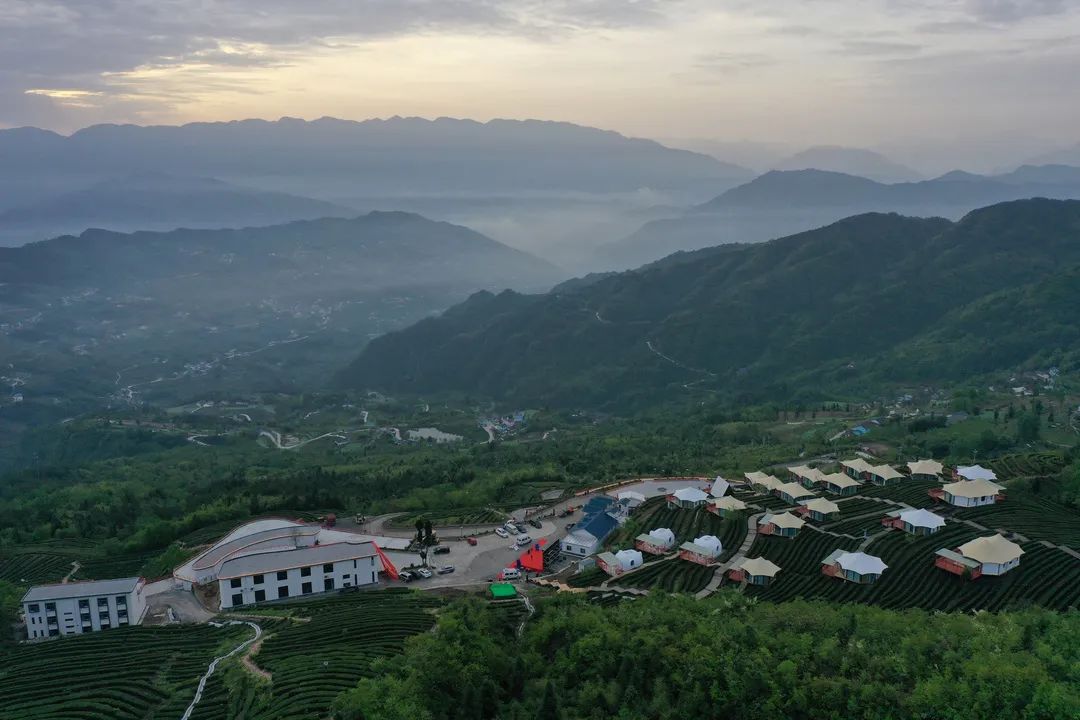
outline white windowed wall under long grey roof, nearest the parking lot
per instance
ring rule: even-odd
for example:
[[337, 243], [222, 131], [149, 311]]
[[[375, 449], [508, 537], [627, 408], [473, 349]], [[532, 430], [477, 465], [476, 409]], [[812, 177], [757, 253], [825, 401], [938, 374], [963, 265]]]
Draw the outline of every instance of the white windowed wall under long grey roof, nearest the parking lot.
[[[221, 609], [227, 610], [228, 608], [238, 606], [284, 599], [286, 597], [296, 598], [305, 595], [315, 595], [338, 590], [342, 587], [372, 585], [379, 582], [379, 570], [382, 569], [382, 565], [374, 555], [352, 560], [339, 560], [333, 563], [327, 562], [326, 565], [334, 566], [330, 572], [324, 572], [322, 563], [311, 566], [309, 575], [303, 574], [303, 568], [283, 570], [282, 572], [285, 573], [284, 580], [279, 579], [278, 572], [267, 572], [262, 574], [261, 583], [255, 582], [256, 575], [218, 580], [217, 587], [221, 598]], [[326, 586], [327, 579], [334, 581], [333, 587]], [[311, 584], [309, 593], [303, 592], [306, 583]], [[285, 588], [287, 595], [281, 595], [281, 588]], [[259, 590], [262, 590], [265, 594], [261, 598], [257, 595]]]

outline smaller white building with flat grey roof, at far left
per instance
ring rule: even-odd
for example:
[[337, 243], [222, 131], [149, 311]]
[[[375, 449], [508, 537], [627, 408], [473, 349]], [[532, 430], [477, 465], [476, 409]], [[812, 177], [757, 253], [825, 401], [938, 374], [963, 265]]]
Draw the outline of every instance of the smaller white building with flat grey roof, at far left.
[[138, 625], [146, 612], [141, 578], [35, 585], [23, 596], [31, 640]]

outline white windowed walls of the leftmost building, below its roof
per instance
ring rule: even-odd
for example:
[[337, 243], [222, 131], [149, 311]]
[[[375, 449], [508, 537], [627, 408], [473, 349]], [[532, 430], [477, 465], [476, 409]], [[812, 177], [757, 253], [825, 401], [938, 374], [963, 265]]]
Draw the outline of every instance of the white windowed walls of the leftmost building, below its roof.
[[[83, 612], [83, 603], [89, 612]], [[126, 606], [126, 611], [124, 611], [124, 606]], [[32, 611], [33, 607], [37, 607], [37, 612]], [[23, 603], [26, 631], [31, 640], [138, 625], [143, 622], [145, 612], [146, 598], [143, 594], [141, 582], [134, 592], [127, 594], [94, 595]]]

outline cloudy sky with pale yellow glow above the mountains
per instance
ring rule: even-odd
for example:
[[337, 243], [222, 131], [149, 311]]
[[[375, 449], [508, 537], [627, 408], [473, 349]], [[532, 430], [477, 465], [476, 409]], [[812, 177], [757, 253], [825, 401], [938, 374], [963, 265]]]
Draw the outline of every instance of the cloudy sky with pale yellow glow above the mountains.
[[0, 126], [65, 133], [540, 118], [971, 164], [1080, 140], [1078, 69], [1078, 0], [0, 0]]

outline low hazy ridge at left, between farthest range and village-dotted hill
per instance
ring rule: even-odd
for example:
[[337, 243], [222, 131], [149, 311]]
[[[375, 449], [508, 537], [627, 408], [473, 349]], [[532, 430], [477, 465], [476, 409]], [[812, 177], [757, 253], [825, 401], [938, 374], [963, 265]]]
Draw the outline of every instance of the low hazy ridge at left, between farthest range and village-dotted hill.
[[214, 178], [135, 173], [0, 213], [0, 245], [22, 245], [87, 228], [131, 232], [238, 228], [356, 215], [343, 205]]

